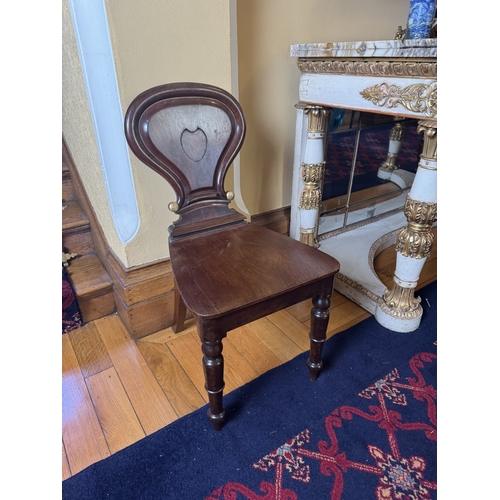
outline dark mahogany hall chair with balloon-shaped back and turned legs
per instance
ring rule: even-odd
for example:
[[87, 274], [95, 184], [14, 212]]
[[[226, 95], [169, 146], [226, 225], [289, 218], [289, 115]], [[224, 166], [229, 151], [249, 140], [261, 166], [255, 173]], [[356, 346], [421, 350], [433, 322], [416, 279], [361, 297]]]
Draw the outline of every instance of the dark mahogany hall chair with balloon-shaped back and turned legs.
[[179, 215], [169, 227], [175, 281], [175, 332], [186, 307], [201, 339], [208, 418], [220, 430], [225, 410], [222, 339], [227, 332], [312, 298], [310, 379], [321, 370], [330, 298], [339, 263], [288, 236], [248, 223], [229, 208], [224, 177], [245, 136], [234, 97], [200, 83], [161, 85], [137, 96], [125, 116], [134, 154], [164, 177]]

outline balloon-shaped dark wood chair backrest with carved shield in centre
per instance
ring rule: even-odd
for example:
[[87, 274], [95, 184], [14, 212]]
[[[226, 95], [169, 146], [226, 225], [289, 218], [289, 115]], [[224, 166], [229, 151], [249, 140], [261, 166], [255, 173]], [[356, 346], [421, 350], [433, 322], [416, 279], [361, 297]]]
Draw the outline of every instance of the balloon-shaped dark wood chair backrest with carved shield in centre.
[[229, 208], [232, 193], [224, 190], [245, 137], [243, 111], [231, 94], [201, 83], [154, 87], [130, 104], [125, 136], [134, 154], [175, 191], [169, 208], [179, 219], [169, 228], [171, 237], [244, 220]]

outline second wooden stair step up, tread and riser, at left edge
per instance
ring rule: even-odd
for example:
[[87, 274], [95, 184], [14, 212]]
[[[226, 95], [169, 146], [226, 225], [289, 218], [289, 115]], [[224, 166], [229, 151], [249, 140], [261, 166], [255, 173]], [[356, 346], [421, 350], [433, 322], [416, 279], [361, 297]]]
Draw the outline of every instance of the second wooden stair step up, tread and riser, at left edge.
[[95, 251], [89, 219], [76, 201], [63, 203], [62, 246], [65, 252], [77, 255]]

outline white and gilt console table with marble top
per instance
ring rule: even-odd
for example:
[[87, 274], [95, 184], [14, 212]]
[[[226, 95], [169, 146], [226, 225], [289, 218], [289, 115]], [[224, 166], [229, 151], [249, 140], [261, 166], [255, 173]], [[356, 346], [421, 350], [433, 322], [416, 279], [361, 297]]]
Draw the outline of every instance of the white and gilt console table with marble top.
[[[290, 236], [334, 255], [341, 265], [335, 289], [380, 324], [395, 332], [414, 331], [422, 316], [415, 287], [437, 220], [437, 39], [297, 44], [291, 56], [298, 58], [301, 77]], [[332, 108], [416, 118], [424, 137], [414, 178], [401, 180], [394, 165], [380, 171], [381, 178], [400, 186], [407, 182], [405, 196], [385, 208], [375, 203], [371, 218], [353, 216], [333, 231], [332, 221], [320, 217]], [[390, 144], [389, 156], [397, 140]], [[387, 289], [373, 259], [393, 244], [396, 269]]]

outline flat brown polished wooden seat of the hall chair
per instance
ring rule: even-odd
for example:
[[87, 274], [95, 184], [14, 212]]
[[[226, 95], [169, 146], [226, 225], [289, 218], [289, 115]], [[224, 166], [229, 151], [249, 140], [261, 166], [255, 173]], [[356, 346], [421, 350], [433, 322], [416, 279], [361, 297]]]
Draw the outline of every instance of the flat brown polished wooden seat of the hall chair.
[[171, 240], [170, 257], [184, 303], [206, 319], [241, 313], [284, 294], [288, 304], [280, 305], [287, 307], [311, 297], [308, 284], [339, 270], [333, 257], [245, 222]]

